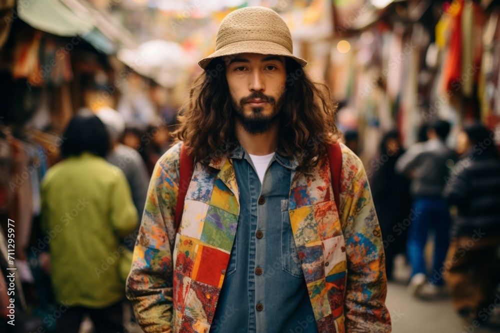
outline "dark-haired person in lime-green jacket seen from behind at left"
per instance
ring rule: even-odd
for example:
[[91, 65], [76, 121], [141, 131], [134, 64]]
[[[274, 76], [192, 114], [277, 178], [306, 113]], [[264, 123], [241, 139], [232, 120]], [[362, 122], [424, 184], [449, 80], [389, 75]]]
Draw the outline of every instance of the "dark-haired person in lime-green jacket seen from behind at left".
[[96, 116], [73, 117], [63, 138], [65, 159], [41, 183], [43, 240], [62, 309], [56, 332], [77, 333], [85, 314], [96, 333], [122, 332], [119, 266], [127, 253], [121, 243], [133, 232], [137, 211], [125, 175], [104, 159], [109, 136]]

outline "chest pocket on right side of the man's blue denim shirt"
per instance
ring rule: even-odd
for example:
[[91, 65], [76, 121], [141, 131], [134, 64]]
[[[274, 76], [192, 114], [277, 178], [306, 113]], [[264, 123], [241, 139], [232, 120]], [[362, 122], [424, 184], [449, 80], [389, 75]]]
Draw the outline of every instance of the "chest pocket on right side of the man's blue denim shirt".
[[281, 268], [295, 278], [304, 276], [291, 231], [288, 199], [281, 200]]

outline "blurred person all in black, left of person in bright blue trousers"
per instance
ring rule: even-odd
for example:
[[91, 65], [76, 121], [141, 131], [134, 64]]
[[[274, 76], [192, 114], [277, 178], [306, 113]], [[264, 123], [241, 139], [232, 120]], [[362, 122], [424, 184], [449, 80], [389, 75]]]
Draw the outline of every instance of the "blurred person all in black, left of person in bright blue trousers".
[[387, 279], [392, 278], [396, 255], [406, 256], [408, 228], [404, 222], [411, 213], [410, 182], [394, 170], [403, 153], [397, 131], [391, 130], [382, 138], [379, 156], [370, 163], [371, 193], [382, 232]]

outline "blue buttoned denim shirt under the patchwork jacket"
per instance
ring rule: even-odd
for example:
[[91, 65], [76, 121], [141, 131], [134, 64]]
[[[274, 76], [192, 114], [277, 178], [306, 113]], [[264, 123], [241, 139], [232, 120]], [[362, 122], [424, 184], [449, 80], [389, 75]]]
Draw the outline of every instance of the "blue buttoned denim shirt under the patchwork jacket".
[[316, 333], [288, 215], [293, 160], [271, 158], [262, 186], [239, 147], [230, 158], [240, 214], [211, 333]]

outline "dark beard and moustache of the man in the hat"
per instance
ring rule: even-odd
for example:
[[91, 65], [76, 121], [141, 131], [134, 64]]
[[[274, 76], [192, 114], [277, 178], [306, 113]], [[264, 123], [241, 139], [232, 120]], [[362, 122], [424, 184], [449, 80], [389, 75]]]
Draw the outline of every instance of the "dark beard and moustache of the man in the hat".
[[[283, 94], [284, 95], [284, 94]], [[252, 92], [250, 95], [243, 97], [237, 103], [233, 98], [231, 98], [231, 106], [234, 111], [235, 116], [239, 119], [241, 126], [252, 135], [262, 134], [269, 131], [274, 125], [277, 117], [279, 116], [279, 111], [281, 110], [283, 95], [279, 96], [278, 100], [272, 96], [264, 95], [261, 92]], [[268, 102], [272, 106], [272, 112], [268, 115], [263, 115], [262, 107], [252, 107], [251, 115], [246, 115], [244, 113], [245, 104], [252, 99], [261, 99]]]

